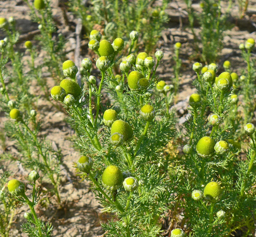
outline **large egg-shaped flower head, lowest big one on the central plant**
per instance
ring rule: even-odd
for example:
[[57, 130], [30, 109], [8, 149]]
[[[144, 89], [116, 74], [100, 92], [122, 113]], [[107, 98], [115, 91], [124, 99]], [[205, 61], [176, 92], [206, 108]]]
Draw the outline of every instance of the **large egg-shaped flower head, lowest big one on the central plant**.
[[109, 165], [102, 174], [103, 186], [111, 191], [115, 191], [122, 186], [123, 175], [116, 165]]

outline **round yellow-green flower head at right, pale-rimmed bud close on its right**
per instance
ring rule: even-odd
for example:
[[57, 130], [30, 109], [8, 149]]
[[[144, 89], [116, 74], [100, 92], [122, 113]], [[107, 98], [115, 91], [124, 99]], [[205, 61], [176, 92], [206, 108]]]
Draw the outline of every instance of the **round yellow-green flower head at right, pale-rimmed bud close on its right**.
[[215, 142], [211, 137], [202, 137], [196, 146], [197, 154], [202, 157], [212, 156]]

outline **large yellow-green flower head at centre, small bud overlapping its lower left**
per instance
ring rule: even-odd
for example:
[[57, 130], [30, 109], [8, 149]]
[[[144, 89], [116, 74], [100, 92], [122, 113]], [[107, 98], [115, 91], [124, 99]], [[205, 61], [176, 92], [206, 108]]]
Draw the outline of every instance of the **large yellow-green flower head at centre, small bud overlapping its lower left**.
[[127, 122], [122, 121], [121, 119], [116, 120], [112, 124], [110, 131], [111, 135], [116, 132], [123, 135], [124, 142], [130, 142], [133, 139], [133, 130], [131, 126]]

